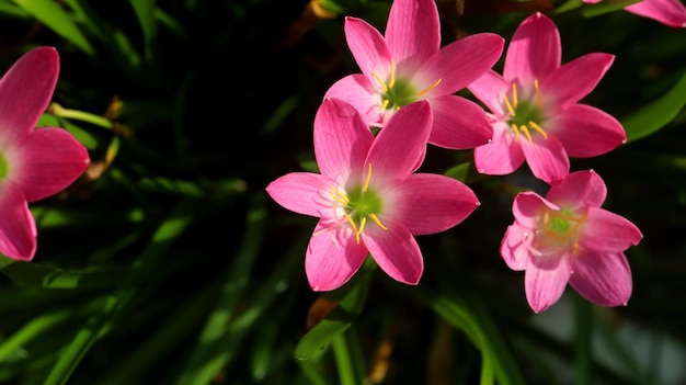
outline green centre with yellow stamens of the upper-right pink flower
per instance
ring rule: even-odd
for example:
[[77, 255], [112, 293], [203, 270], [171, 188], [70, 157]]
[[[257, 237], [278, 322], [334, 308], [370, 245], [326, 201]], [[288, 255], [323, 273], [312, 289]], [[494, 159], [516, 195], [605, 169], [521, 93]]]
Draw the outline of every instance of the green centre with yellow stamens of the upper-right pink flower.
[[540, 127], [538, 122], [544, 121], [542, 113], [542, 100], [540, 97], [540, 89], [538, 88], [538, 79], [534, 80], [534, 90], [536, 91], [536, 100], [517, 98], [517, 84], [512, 83], [512, 101], [507, 98], [507, 94], [503, 97], [505, 106], [510, 112], [507, 124], [512, 128], [515, 135], [515, 140], [519, 140], [519, 136], [524, 135], [529, 140], [534, 141], [531, 136], [533, 132], [539, 133], [544, 139], [548, 138], [548, 134]]

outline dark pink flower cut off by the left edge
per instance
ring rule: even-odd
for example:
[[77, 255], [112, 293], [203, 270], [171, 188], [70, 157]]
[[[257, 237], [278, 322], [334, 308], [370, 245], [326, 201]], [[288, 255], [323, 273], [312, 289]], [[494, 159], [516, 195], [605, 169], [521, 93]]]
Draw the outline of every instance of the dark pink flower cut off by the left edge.
[[56, 194], [87, 168], [87, 149], [62, 128], [34, 129], [59, 72], [52, 47], [23, 55], [0, 79], [0, 252], [33, 259], [36, 225], [27, 202]]

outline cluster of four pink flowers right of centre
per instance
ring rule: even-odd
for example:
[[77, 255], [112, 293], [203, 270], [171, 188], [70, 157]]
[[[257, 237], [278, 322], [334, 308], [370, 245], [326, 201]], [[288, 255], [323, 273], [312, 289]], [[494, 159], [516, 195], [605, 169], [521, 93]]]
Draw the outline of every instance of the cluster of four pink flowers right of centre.
[[[643, 8], [664, 2], [645, 0]], [[500, 249], [511, 269], [526, 271], [534, 312], [556, 303], [568, 283], [602, 306], [628, 302], [625, 251], [641, 231], [601, 208], [604, 181], [593, 170], [571, 172], [569, 159], [626, 141], [616, 118], [580, 102], [613, 55], [561, 64], [558, 29], [535, 13], [515, 31], [500, 75], [492, 68], [504, 39], [479, 33], [441, 47], [433, 0], [393, 1], [385, 34], [350, 16], [344, 29], [362, 73], [332, 84], [315, 117], [320, 173], [288, 173], [266, 188], [282, 206], [319, 218], [305, 261], [312, 290], [340, 287], [367, 254], [392, 279], [419, 283], [423, 258], [414, 236], [449, 229], [479, 205], [466, 184], [416, 172], [434, 145], [473, 149], [484, 174], [508, 174], [526, 161], [550, 186], [545, 197], [515, 196]], [[465, 88], [488, 111], [456, 95]]]

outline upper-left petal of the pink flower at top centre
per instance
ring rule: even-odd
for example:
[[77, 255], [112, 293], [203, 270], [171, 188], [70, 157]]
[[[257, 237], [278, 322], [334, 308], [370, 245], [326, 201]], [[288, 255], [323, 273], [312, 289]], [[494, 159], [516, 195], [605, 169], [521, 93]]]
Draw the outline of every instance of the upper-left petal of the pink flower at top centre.
[[386, 79], [391, 71], [391, 52], [386, 39], [371, 24], [357, 18], [345, 18], [345, 39], [347, 46], [368, 79], [376, 73]]

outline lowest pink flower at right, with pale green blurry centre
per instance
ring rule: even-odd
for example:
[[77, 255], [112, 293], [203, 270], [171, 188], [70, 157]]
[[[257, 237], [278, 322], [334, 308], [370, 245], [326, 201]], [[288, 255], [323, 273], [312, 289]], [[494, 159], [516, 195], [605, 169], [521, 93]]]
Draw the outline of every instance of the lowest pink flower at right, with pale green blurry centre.
[[601, 208], [607, 190], [593, 170], [570, 173], [546, 197], [519, 193], [515, 217], [501, 245], [513, 270], [526, 270], [526, 298], [534, 312], [554, 304], [567, 283], [601, 306], [626, 305], [631, 271], [624, 251], [641, 231], [626, 218]]

